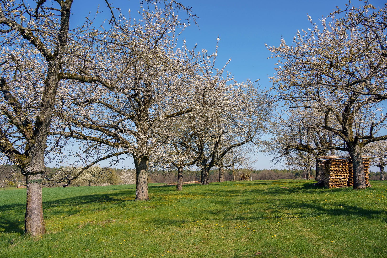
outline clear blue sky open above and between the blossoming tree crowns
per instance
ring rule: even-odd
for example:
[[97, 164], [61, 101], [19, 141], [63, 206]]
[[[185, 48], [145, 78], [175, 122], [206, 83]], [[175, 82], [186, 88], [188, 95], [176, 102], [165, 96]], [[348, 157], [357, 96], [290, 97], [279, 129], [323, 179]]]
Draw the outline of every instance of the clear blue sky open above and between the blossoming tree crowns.
[[[188, 46], [198, 45], [210, 52], [215, 50], [216, 38], [219, 36], [219, 48], [217, 65], [222, 67], [231, 58], [227, 70], [231, 71], [237, 81], [246, 79], [260, 79], [260, 87], [271, 86], [268, 75], [274, 73], [276, 60], [267, 59], [270, 52], [265, 47], [278, 46], [281, 37], [291, 43], [293, 36], [299, 29], [307, 29], [310, 23], [309, 14], [314, 22], [321, 17], [329, 15], [336, 6], [345, 8], [348, 1], [345, 0], [181, 0], [189, 7], [199, 19], [195, 26], [188, 27], [180, 39], [186, 39]], [[128, 9], [135, 13], [139, 9], [139, 1], [136, 0], [110, 0], [114, 7], [119, 7], [124, 15]], [[353, 1], [354, 5], [362, 2]], [[381, 7], [385, 1], [372, 0], [373, 5]], [[83, 23], [84, 17], [91, 12], [92, 15], [100, 4], [101, 17], [108, 18], [110, 11], [106, 8], [104, 0], [74, 1], [72, 7], [72, 26]], [[184, 14], [181, 14], [184, 17]], [[255, 164], [257, 169], [273, 167], [270, 157], [258, 154]], [[133, 166], [133, 165], [132, 165]], [[274, 165], [274, 167], [281, 167]]]

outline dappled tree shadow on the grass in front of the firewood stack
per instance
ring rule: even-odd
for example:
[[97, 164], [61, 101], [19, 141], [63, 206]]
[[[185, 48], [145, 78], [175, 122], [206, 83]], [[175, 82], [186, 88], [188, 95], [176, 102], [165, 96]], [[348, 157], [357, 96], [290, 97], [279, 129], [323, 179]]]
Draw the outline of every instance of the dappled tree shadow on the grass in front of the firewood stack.
[[[233, 202], [234, 205], [243, 207], [242, 210], [256, 210], [256, 207], [259, 207], [259, 210], [255, 214], [233, 214], [233, 219], [247, 219], [247, 220], [256, 220], [261, 219], [262, 215], [271, 214], [271, 216], [276, 217], [286, 217], [286, 218], [302, 218], [320, 215], [332, 215], [332, 216], [350, 216], [355, 215], [359, 217], [366, 217], [372, 219], [375, 217], [384, 216], [387, 219], [386, 210], [377, 210], [375, 208], [369, 207], [360, 207], [358, 205], [347, 204], [345, 201], [340, 203], [340, 200], [334, 202], [334, 207], [327, 207], [327, 203], [319, 203], [320, 199], [305, 199], [300, 200], [298, 198], [289, 198], [289, 195], [297, 193], [348, 193], [352, 192], [351, 188], [316, 188], [313, 186], [313, 183], [304, 183], [299, 187], [288, 187], [281, 188], [279, 186], [269, 187], [267, 189], [249, 189], [249, 190], [235, 190], [230, 189], [226, 190], [224, 188], [218, 189], [216, 192], [219, 196], [229, 196], [231, 194], [239, 197], [237, 202]], [[212, 192], [207, 191], [207, 194]], [[237, 197], [237, 198], [238, 198]], [[269, 198], [270, 197], [270, 198]], [[273, 199], [273, 197], [277, 197]], [[229, 205], [231, 200], [227, 198], [221, 200], [212, 200], [214, 204]], [[370, 201], [373, 202], [373, 201]], [[286, 213], [286, 211], [291, 211]], [[301, 210], [301, 212], [299, 212]], [[305, 211], [305, 212], [302, 212]], [[216, 214], [216, 212], [213, 212]]]

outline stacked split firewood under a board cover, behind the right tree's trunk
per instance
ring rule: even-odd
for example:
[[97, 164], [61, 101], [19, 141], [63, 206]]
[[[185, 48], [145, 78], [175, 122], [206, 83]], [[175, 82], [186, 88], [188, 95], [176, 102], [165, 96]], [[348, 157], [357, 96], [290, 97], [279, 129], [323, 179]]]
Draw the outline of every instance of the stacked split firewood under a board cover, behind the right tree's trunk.
[[[371, 156], [362, 156], [364, 175], [366, 186], [370, 187], [368, 178], [370, 177], [370, 159], [375, 159]], [[327, 188], [340, 188], [353, 186], [353, 166], [350, 157], [343, 156], [322, 156], [319, 157], [321, 161], [320, 171], [323, 171], [323, 183]], [[320, 181], [319, 181], [320, 182]]]

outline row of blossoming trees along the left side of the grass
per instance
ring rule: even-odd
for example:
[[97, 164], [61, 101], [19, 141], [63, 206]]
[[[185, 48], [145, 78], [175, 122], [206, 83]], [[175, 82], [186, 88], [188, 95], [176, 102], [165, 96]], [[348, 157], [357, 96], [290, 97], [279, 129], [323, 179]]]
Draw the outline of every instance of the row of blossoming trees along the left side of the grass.
[[144, 2], [136, 20], [106, 0], [109, 22], [70, 27], [72, 4], [1, 1], [0, 150], [26, 177], [33, 236], [45, 233], [45, 162], [75, 157], [81, 166], [49, 178], [68, 185], [131, 155], [135, 199], [148, 200], [149, 166], [175, 166], [181, 190], [196, 164], [207, 185], [212, 167], [234, 166], [235, 148], [257, 143], [272, 111], [267, 92], [215, 67], [216, 51], [178, 41], [188, 26], [178, 12], [195, 21], [181, 3]]

